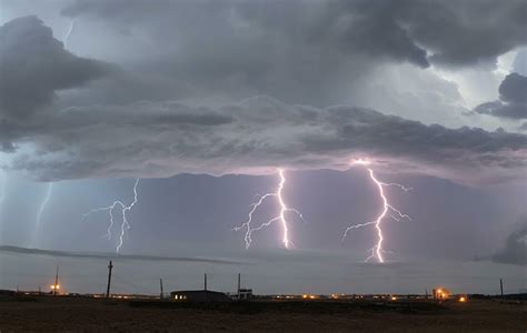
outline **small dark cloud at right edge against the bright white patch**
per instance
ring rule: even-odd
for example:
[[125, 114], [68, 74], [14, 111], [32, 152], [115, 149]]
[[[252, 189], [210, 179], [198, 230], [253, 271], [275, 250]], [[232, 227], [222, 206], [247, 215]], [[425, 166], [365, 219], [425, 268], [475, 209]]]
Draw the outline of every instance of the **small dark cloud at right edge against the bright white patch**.
[[499, 85], [499, 101], [483, 103], [477, 113], [510, 119], [527, 119], [527, 77], [508, 74]]

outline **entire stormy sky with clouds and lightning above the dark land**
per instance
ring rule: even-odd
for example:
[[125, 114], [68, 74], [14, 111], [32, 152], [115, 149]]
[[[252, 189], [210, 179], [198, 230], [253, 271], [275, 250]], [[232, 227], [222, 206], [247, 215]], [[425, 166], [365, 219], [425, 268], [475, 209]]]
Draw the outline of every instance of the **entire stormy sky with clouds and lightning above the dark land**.
[[[525, 0], [0, 0], [0, 289], [59, 264], [99, 292], [111, 256], [122, 292], [527, 290], [526, 26]], [[342, 238], [381, 194], [381, 246]]]

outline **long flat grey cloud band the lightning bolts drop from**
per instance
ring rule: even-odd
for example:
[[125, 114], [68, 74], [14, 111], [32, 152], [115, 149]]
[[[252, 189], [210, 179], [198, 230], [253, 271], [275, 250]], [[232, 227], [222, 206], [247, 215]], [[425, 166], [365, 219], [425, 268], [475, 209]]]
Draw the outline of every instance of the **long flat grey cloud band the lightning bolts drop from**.
[[351, 158], [364, 155], [389, 159], [397, 171], [415, 168], [466, 182], [515, 178], [527, 167], [527, 135], [428, 127], [369, 109], [317, 109], [268, 97], [216, 108], [70, 108], [32, 123], [0, 125], [3, 140], [19, 147], [9, 168], [41, 180], [347, 169]]

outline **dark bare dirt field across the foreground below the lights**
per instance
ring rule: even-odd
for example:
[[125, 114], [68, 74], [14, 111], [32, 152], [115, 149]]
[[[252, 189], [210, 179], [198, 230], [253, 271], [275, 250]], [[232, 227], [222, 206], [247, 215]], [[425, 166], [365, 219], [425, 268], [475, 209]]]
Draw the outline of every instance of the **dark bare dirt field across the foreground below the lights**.
[[252, 302], [181, 304], [40, 297], [0, 301], [0, 332], [526, 332], [527, 305]]

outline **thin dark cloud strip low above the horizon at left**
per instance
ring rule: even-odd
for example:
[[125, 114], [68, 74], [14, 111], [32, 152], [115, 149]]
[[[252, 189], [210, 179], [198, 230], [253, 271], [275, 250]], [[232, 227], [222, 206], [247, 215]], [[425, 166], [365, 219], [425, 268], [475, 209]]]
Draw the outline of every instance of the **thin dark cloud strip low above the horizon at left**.
[[162, 256], [162, 255], [142, 255], [142, 254], [115, 254], [115, 253], [97, 253], [97, 252], [68, 252], [52, 251], [40, 249], [27, 249], [9, 245], [0, 245], [0, 253], [16, 253], [30, 255], [46, 255], [52, 258], [82, 258], [96, 260], [128, 260], [128, 261], [177, 261], [177, 262], [197, 262], [197, 263], [217, 263], [217, 264], [242, 264], [236, 261], [203, 259], [203, 258], [185, 258], [185, 256]]

